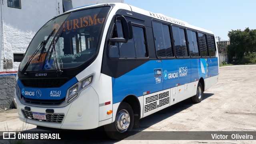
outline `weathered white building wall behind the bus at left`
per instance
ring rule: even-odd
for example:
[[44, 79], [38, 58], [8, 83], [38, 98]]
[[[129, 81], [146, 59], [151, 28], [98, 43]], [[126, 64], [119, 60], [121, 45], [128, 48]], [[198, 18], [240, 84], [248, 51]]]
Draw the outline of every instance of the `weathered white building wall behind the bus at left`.
[[14, 98], [20, 60], [36, 32], [54, 16], [70, 8], [124, 0], [1, 0], [0, 109]]

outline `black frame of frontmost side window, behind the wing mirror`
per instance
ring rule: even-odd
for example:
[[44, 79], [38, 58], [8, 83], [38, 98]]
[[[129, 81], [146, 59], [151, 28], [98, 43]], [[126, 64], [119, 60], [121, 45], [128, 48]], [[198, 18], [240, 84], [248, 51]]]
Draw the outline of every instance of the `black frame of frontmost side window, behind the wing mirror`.
[[[130, 16], [125, 16], [125, 15], [121, 15], [121, 14], [115, 14], [115, 15], [113, 16], [111, 22], [110, 22], [110, 26], [109, 26], [109, 29], [108, 29], [108, 32], [110, 32], [109, 37], [112, 37], [112, 35], [113, 35], [113, 32], [114, 32], [114, 24], [115, 24], [114, 20], [115, 20], [115, 18], [118, 17], [118, 16], [124, 16], [124, 18], [126, 18], [126, 20], [130, 20], [131, 23], [132, 23], [132, 26], [137, 26], [137, 27], [143, 28], [143, 31], [144, 31], [144, 38], [145, 38], [145, 42], [146, 42], [146, 44], [145, 44], [145, 46], [146, 46], [146, 52], [147, 52], [147, 55], [148, 55], [148, 56], [145, 57], [145, 58], [111, 58], [111, 57], [109, 56], [109, 50], [110, 50], [110, 43], [111, 43], [111, 42], [108, 41], [108, 39], [107, 39], [108, 36], [107, 36], [107, 37], [106, 37], [106, 42], [107, 42], [107, 46], [108, 46], [108, 49], [107, 49], [107, 56], [108, 56], [108, 58], [109, 58], [110, 60], [148, 60], [148, 59], [149, 59], [149, 50], [148, 50], [148, 40], [147, 40], [147, 36], [146, 36], [146, 27], [145, 27], [144, 25], [142, 25], [142, 24], [137, 24], [137, 23], [132, 22], [132, 20], [130, 19]], [[119, 54], [119, 56], [120, 56], [120, 54]]]

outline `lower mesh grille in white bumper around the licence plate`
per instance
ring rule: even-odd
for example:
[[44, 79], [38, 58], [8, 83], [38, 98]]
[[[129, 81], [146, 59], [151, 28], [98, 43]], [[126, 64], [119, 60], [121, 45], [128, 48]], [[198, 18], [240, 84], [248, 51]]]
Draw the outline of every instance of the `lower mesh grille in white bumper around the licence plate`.
[[22, 110], [22, 113], [25, 118], [31, 119], [31, 120], [37, 120], [41, 122], [54, 122], [54, 123], [62, 123], [62, 120], [64, 119], [64, 114], [55, 114], [55, 113], [46, 113], [46, 120], [39, 120], [33, 118], [33, 114], [31, 111]]

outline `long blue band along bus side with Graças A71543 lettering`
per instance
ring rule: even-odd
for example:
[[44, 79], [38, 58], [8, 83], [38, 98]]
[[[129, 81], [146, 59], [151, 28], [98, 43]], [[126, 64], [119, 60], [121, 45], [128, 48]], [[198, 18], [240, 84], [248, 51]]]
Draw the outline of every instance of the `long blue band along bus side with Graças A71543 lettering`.
[[[158, 92], [186, 83], [198, 81], [201, 77], [218, 75], [218, 58], [150, 60], [134, 70], [112, 78], [113, 104], [121, 102], [125, 96], [142, 96], [143, 92]], [[162, 68], [161, 82], [156, 82], [154, 69]], [[186, 70], [187, 69], [187, 70]], [[169, 77], [168, 77], [169, 74]], [[172, 76], [170, 76], [170, 74]], [[178, 77], [175, 77], [178, 74]]]

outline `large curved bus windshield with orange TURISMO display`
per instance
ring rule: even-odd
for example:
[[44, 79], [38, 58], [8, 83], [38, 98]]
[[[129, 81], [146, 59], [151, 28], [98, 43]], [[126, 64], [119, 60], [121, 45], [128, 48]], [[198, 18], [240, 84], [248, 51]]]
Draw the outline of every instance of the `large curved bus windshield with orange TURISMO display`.
[[44, 24], [30, 42], [20, 70], [63, 70], [92, 60], [109, 10], [100, 7], [70, 12]]

